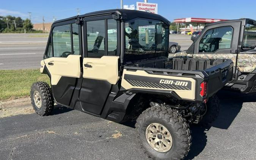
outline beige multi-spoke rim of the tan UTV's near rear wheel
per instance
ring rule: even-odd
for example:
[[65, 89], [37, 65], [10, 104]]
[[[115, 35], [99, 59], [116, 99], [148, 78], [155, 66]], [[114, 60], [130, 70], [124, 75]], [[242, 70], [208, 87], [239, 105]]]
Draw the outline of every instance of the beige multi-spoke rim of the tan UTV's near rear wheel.
[[159, 123], [149, 124], [146, 128], [148, 144], [158, 152], [167, 152], [173, 145], [171, 134], [165, 126]]

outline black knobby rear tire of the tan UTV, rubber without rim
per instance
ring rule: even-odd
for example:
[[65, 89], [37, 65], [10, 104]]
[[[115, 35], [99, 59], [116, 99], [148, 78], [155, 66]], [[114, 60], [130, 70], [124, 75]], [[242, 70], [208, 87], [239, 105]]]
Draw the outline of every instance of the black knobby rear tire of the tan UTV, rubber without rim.
[[[138, 140], [145, 153], [154, 160], [182, 160], [191, 146], [191, 134], [186, 120], [169, 107], [157, 105], [143, 111], [135, 124]], [[146, 128], [149, 124], [159, 123], [171, 133], [173, 144], [167, 152], [158, 152], [146, 140]]]

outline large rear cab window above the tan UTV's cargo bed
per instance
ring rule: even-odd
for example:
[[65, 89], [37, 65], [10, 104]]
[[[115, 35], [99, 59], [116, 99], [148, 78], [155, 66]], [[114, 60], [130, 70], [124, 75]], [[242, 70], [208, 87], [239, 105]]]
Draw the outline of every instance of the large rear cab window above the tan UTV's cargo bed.
[[163, 56], [169, 27], [160, 20], [136, 18], [125, 23], [125, 61]]

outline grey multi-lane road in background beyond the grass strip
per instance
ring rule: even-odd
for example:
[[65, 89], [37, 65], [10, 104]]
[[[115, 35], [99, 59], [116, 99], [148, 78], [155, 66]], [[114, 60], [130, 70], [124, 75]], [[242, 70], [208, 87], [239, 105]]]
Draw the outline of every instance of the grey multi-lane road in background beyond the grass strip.
[[[0, 34], [0, 69], [39, 68], [48, 35]], [[187, 35], [170, 35], [170, 41], [178, 42], [181, 50], [187, 50], [192, 44]]]

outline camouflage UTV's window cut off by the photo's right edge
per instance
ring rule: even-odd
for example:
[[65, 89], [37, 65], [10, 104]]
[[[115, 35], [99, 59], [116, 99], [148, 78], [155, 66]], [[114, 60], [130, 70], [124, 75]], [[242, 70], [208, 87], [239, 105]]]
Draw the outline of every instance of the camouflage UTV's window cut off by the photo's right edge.
[[252, 50], [256, 47], [256, 22], [249, 20], [243, 34], [243, 50]]

